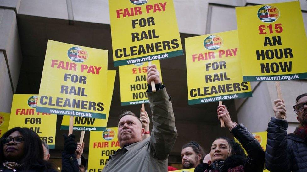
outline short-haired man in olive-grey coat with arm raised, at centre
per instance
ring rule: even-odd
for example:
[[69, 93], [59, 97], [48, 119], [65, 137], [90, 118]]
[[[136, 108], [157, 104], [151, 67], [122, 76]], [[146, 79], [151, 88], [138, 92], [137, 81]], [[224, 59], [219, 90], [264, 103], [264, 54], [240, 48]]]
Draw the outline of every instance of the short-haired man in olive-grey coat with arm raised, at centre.
[[[152, 92], [150, 81], [155, 82], [156, 92]], [[109, 157], [103, 172], [167, 171], [168, 155], [177, 138], [173, 107], [155, 65], [148, 67], [147, 83], [153, 121], [151, 136], [142, 141], [145, 129], [140, 119], [130, 111], [124, 112], [117, 136], [121, 149]]]

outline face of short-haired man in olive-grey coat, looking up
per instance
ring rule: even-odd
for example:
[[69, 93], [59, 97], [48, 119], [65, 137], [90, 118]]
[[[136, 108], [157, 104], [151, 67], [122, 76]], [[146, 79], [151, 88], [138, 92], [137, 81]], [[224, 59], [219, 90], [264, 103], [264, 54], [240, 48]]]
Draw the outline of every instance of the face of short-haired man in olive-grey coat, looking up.
[[132, 115], [126, 115], [118, 122], [118, 141], [120, 147], [124, 145], [130, 145], [132, 143], [142, 141], [142, 136], [145, 133], [145, 129], [142, 128], [142, 123]]

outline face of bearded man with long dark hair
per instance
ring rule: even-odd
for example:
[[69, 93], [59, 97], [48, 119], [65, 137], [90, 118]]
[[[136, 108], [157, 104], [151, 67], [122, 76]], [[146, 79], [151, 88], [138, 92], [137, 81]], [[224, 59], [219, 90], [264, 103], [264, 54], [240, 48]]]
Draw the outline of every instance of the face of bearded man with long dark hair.
[[192, 147], [186, 147], [181, 150], [181, 158], [182, 168], [189, 169], [195, 168], [198, 164], [200, 164], [201, 155], [196, 154]]

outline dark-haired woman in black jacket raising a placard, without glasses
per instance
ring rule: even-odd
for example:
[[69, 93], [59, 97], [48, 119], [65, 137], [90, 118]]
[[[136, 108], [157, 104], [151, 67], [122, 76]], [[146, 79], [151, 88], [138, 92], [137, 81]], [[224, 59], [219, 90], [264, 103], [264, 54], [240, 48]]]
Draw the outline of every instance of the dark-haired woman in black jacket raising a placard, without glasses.
[[244, 125], [232, 122], [224, 105], [218, 106], [218, 119], [223, 119], [241, 145], [227, 137], [216, 138], [210, 148], [211, 163], [199, 164], [194, 172], [260, 172], [264, 169], [265, 152]]

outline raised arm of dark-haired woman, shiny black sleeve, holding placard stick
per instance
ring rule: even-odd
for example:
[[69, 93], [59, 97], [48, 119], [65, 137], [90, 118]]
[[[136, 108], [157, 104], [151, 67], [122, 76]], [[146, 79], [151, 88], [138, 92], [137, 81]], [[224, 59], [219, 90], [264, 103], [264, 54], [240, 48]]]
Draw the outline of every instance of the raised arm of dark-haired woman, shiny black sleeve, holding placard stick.
[[245, 171], [263, 171], [265, 152], [258, 140], [254, 138], [252, 133], [243, 124], [232, 122], [229, 112], [224, 105], [218, 106], [218, 119], [223, 118], [225, 126], [229, 128], [233, 136], [241, 143], [247, 152], [247, 159], [244, 165]]

